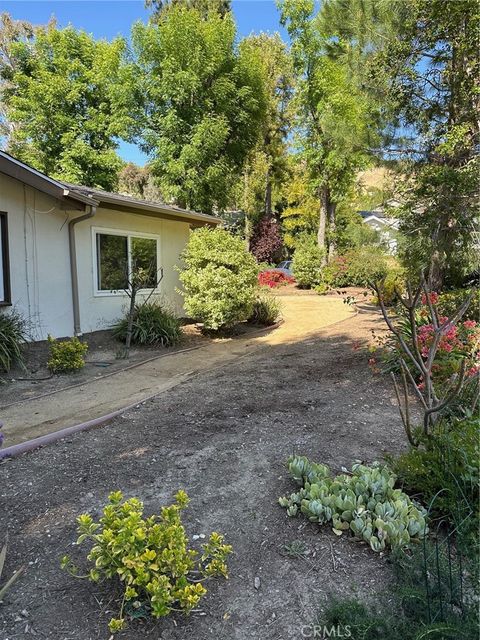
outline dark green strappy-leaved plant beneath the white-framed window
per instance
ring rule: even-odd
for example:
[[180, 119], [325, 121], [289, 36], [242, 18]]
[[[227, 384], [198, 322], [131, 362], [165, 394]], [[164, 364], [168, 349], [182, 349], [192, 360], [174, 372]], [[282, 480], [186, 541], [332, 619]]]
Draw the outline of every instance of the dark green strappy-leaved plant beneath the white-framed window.
[[[128, 317], [118, 320], [113, 327], [113, 335], [125, 341]], [[132, 325], [132, 344], [162, 345], [172, 347], [182, 339], [180, 320], [158, 302], [147, 302], [135, 306]]]

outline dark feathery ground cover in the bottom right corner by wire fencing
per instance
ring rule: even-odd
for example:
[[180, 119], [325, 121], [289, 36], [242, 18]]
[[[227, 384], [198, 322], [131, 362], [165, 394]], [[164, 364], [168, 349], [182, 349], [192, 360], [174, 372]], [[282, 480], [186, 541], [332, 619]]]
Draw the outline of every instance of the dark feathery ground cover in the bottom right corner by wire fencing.
[[[425, 583], [425, 552], [434, 559], [434, 568]], [[475, 572], [467, 563], [460, 583], [445, 550], [437, 555], [431, 543], [396, 551], [390, 557], [396, 582], [389, 597], [380, 594], [376, 601], [365, 602], [361, 595], [331, 597], [315, 620], [317, 627], [332, 627], [351, 640], [476, 640], [478, 608], [472, 579]], [[440, 587], [439, 587], [440, 585]], [[462, 590], [470, 601], [462, 602]], [[393, 597], [392, 597], [393, 596]], [[347, 635], [348, 633], [348, 635]], [[320, 636], [321, 637], [321, 636]], [[341, 636], [340, 636], [341, 637]]]

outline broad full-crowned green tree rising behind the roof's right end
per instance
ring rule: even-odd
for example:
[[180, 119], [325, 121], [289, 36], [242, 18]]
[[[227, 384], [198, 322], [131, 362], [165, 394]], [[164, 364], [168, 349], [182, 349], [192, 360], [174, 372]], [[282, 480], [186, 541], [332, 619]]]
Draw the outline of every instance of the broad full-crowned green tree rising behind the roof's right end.
[[172, 7], [132, 40], [145, 117], [140, 139], [165, 196], [222, 210], [258, 140], [266, 99], [261, 61], [238, 50], [231, 14]]

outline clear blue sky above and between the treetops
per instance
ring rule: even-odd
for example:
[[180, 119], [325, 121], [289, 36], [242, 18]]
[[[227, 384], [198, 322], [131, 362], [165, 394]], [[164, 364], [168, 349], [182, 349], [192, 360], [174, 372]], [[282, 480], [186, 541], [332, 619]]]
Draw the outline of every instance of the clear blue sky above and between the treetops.
[[[252, 32], [279, 31], [287, 40], [274, 0], [233, 0], [232, 7], [240, 37]], [[108, 39], [117, 35], [128, 37], [132, 23], [147, 21], [149, 15], [143, 0], [3, 0], [1, 10], [16, 20], [34, 24], [44, 24], [55, 16], [59, 26], [71, 23], [77, 29], [93, 33], [96, 38]], [[145, 156], [135, 145], [122, 142], [119, 154], [124, 160], [141, 165], [145, 162]]]

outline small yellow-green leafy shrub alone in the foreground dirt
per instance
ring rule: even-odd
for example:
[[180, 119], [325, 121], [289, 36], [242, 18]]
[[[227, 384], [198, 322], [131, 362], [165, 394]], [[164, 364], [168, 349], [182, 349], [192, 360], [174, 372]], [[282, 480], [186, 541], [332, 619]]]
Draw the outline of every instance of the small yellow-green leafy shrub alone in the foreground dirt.
[[[143, 517], [143, 503], [123, 500], [121, 491], [111, 493], [100, 521], [89, 514], [77, 518], [79, 538], [93, 543], [87, 559], [91, 564], [84, 577], [92, 582], [104, 579], [120, 582], [123, 599], [118, 618], [110, 620], [112, 633], [123, 629], [128, 617], [168, 616], [173, 610], [189, 613], [206, 593], [202, 582], [211, 576], [227, 577], [226, 558], [230, 545], [212, 533], [202, 544], [202, 554], [188, 548], [181, 511], [188, 502], [184, 491], [175, 504], [162, 507], [159, 516]], [[62, 567], [79, 576], [69, 556]], [[198, 579], [198, 576], [201, 579]]]

